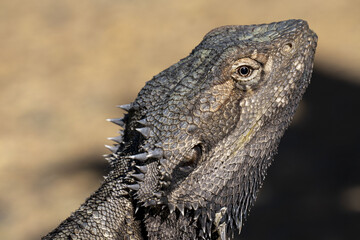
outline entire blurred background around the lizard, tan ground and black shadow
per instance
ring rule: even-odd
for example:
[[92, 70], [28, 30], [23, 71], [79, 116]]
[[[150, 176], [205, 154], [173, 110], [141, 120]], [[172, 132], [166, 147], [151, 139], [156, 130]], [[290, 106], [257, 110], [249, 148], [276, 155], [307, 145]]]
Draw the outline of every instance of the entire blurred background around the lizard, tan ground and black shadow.
[[318, 34], [315, 70], [240, 239], [356, 239], [360, 2], [2, 0], [0, 239], [39, 239], [96, 190], [106, 118], [211, 29], [290, 18]]

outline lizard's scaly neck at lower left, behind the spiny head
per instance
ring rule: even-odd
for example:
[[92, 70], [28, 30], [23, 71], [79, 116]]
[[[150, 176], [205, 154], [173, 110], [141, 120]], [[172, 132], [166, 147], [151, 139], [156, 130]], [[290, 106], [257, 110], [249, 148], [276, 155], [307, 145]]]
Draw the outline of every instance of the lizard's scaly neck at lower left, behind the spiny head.
[[79, 209], [43, 239], [142, 239], [139, 222], [133, 214], [124, 215], [124, 211], [134, 212], [133, 203], [120, 180], [110, 173]]

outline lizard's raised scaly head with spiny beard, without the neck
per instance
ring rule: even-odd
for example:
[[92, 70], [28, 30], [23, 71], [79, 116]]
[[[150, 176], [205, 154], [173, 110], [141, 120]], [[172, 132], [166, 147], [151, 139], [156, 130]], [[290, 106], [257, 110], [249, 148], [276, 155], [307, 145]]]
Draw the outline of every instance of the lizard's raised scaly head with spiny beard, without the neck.
[[204, 232], [241, 229], [309, 84], [316, 42], [302, 20], [220, 27], [147, 82], [124, 120], [139, 204], [200, 219]]

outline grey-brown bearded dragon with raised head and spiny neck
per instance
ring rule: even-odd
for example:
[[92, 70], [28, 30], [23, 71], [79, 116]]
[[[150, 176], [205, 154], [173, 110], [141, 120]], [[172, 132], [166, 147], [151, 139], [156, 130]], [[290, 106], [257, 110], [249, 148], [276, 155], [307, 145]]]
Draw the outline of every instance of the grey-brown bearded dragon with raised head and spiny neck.
[[44, 239], [228, 239], [310, 82], [303, 20], [225, 26], [124, 105], [112, 171]]

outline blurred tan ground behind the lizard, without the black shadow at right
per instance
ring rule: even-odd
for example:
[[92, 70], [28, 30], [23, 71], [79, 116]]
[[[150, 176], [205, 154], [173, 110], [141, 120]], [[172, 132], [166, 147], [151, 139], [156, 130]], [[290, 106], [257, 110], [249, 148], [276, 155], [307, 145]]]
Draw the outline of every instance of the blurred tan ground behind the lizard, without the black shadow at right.
[[114, 106], [212, 28], [305, 19], [319, 36], [316, 68], [358, 86], [359, 9], [355, 0], [2, 0], [0, 239], [38, 239], [75, 210], [105, 174], [103, 144], [117, 131], [105, 119], [122, 114]]

